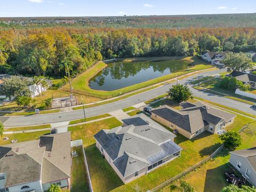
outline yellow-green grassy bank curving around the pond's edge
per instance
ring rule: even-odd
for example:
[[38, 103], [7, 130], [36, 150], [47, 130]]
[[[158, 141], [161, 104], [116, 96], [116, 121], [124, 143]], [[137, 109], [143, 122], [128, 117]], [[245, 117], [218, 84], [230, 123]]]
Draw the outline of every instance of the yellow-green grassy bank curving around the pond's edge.
[[[195, 61], [195, 58], [188, 57], [188, 58], [183, 58], [183, 59], [180, 59], [180, 60], [173, 60], [173, 62], [187, 62], [188, 64], [191, 61], [192, 62]], [[201, 61], [201, 63], [203, 63], [203, 61]], [[124, 87], [122, 89], [114, 90], [114, 91], [100, 91], [100, 90], [90, 89], [90, 87], [89, 87], [90, 79], [94, 75], [96, 75], [100, 70], [105, 68], [106, 66], [107, 65], [105, 63], [98, 62], [93, 67], [91, 67], [90, 69], [85, 71], [83, 74], [74, 78], [73, 81], [72, 81], [72, 86], [74, 87], [74, 92], [79, 93], [79, 94], [89, 95], [89, 96], [92, 96], [92, 97], [98, 97], [98, 98], [106, 99], [106, 98], [116, 97], [120, 94], [124, 94], [124, 93], [130, 92], [130, 91], [138, 90], [140, 88], [143, 88], [143, 87], [146, 87], [146, 86], [149, 86], [149, 85], [153, 85], [153, 84], [156, 84], [156, 83], [159, 83], [159, 82], [163, 82], [163, 81], [166, 81], [166, 80], [174, 78], [174, 77], [178, 77], [178, 76], [181, 76], [181, 75], [192, 73], [192, 72], [197, 71], [197, 70], [208, 69], [208, 68], [212, 67], [210, 65], [205, 65], [205, 63], [204, 64], [198, 64], [195, 67], [191, 67], [189, 69], [185, 69], [185, 70], [179, 71], [177, 73], [165, 75], [165, 76], [162, 76], [162, 77], [151, 79], [151, 80], [146, 81], [146, 82], [142, 82], [142, 83], [139, 83], [139, 84], [127, 86], [127, 87]], [[69, 89], [68, 85], [63, 87], [63, 90], [68, 90], [68, 89]]]

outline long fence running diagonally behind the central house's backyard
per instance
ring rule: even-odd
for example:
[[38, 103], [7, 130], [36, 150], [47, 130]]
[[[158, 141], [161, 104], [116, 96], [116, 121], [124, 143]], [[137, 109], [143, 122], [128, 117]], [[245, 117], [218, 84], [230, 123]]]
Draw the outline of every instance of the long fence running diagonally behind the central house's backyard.
[[189, 167], [187, 170], [181, 172], [180, 174], [174, 176], [173, 178], [163, 182], [161, 185], [158, 185], [157, 187], [149, 190], [151, 192], [154, 192], [154, 191], [158, 191], [160, 189], [162, 189], [163, 187], [169, 185], [170, 183], [172, 183], [173, 181], [177, 180], [177, 179], [180, 179], [182, 178], [184, 175], [188, 174], [189, 172], [195, 170], [197, 167], [201, 166], [202, 164], [206, 163], [207, 161], [210, 161], [213, 157], [215, 157], [219, 151], [222, 150], [222, 148], [224, 147], [224, 145], [221, 145], [217, 150], [215, 150], [209, 157], [206, 157], [205, 159], [203, 159], [201, 162], [198, 162], [197, 164]]

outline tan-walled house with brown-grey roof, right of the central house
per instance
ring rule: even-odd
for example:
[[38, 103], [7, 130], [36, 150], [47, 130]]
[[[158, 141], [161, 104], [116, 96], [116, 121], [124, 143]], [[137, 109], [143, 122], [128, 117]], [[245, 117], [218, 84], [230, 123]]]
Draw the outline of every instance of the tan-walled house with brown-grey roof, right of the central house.
[[204, 131], [217, 133], [234, 122], [235, 115], [206, 106], [201, 102], [180, 103], [182, 109], [176, 110], [167, 105], [151, 110], [151, 118], [192, 139]]

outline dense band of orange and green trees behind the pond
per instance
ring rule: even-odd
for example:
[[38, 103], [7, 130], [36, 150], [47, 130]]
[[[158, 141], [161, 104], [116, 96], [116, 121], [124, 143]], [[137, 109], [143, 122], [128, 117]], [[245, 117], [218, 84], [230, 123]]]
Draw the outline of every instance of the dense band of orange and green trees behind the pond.
[[255, 28], [113, 29], [55, 27], [0, 31], [0, 73], [65, 76], [114, 57], [256, 51]]

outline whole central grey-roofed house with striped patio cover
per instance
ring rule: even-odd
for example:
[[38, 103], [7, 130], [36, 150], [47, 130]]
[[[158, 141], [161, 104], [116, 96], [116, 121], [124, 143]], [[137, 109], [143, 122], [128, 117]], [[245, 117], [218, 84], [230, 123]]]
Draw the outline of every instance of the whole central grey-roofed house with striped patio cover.
[[123, 119], [124, 125], [94, 135], [96, 146], [124, 183], [180, 156], [176, 137], [144, 114]]

